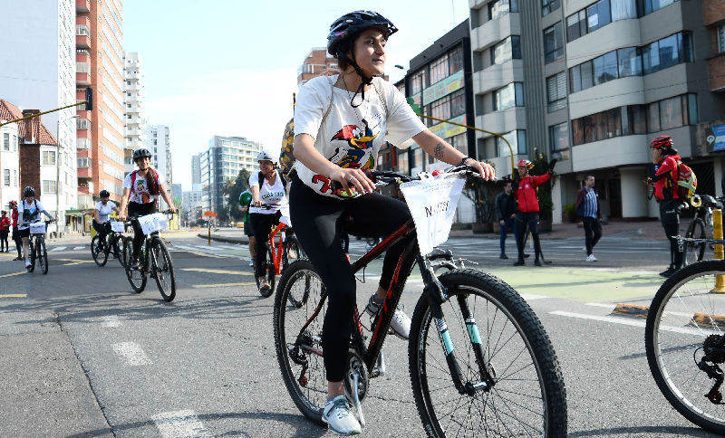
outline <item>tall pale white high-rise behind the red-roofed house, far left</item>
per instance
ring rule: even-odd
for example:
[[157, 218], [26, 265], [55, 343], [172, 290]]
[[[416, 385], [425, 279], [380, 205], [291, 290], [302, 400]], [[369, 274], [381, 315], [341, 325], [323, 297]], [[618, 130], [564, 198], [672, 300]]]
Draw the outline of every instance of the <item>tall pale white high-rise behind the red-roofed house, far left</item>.
[[[28, 109], [43, 112], [76, 102], [76, 80], [83, 80], [85, 74], [83, 66], [78, 66], [81, 70], [76, 72], [76, 49], [88, 43], [88, 29], [78, 23], [75, 16], [82, 4], [49, 0], [29, 7], [24, 3], [0, 0], [3, 21], [0, 98], [12, 102], [20, 113]], [[44, 195], [43, 206], [48, 211], [60, 212], [61, 227], [66, 220], [64, 212], [74, 209], [78, 199], [75, 112], [74, 108], [69, 108], [43, 116], [43, 126], [53, 136], [53, 143], [43, 144], [47, 159], [41, 170], [43, 181], [48, 184], [40, 183], [42, 186], [35, 189]], [[26, 166], [30, 166], [30, 162], [34, 163], [33, 171], [37, 171], [40, 160], [27, 161]], [[12, 168], [5, 164], [3, 168], [12, 174]], [[21, 164], [19, 172], [30, 170]]]

